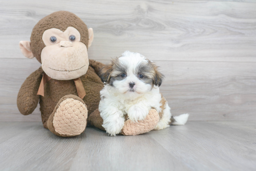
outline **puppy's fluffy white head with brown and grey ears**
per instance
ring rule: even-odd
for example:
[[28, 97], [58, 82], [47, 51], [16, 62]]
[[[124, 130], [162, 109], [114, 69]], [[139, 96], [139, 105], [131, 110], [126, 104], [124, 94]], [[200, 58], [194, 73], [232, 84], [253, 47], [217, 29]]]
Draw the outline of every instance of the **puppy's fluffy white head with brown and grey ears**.
[[158, 67], [139, 53], [125, 51], [102, 68], [102, 82], [119, 93], [141, 94], [160, 86], [164, 75]]

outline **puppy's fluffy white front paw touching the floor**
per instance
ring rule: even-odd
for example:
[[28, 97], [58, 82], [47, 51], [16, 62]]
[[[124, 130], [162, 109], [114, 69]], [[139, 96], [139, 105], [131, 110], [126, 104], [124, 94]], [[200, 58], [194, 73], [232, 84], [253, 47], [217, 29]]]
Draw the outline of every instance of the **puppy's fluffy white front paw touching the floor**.
[[117, 117], [116, 119], [109, 118], [107, 120], [103, 120], [102, 126], [105, 128], [108, 134], [110, 134], [111, 136], [116, 136], [116, 134], [119, 134], [121, 132], [121, 129], [124, 126], [124, 118]]

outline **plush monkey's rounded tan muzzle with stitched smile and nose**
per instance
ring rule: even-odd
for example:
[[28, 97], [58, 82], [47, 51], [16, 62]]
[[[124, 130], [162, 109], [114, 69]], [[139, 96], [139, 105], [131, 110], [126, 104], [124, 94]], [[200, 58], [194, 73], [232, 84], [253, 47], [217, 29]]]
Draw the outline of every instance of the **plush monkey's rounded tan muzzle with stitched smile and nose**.
[[84, 75], [89, 66], [87, 48], [82, 42], [61, 41], [45, 46], [41, 53], [44, 72], [56, 80], [72, 80]]

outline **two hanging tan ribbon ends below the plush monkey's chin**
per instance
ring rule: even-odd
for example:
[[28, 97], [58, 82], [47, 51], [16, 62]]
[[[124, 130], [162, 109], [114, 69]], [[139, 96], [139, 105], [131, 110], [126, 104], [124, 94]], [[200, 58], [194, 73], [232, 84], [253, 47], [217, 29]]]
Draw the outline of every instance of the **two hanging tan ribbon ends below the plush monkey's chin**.
[[[39, 86], [37, 95], [44, 96], [44, 84], [50, 80], [51, 80], [51, 78], [44, 73], [43, 78], [40, 82], [40, 86]], [[86, 95], [86, 92], [84, 90], [84, 86], [81, 81], [81, 78], [79, 77], [79, 78], [74, 79], [74, 82], [75, 82], [75, 87], [77, 88], [78, 97], [83, 99], [84, 96]]]

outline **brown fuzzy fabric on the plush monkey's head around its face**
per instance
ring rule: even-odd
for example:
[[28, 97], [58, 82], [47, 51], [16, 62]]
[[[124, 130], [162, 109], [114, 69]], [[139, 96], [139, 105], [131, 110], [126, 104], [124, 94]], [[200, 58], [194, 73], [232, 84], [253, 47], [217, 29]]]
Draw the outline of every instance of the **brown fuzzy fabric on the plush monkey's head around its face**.
[[42, 40], [44, 31], [50, 28], [57, 28], [64, 32], [67, 27], [74, 27], [79, 31], [81, 35], [80, 42], [83, 42], [88, 49], [89, 34], [86, 24], [78, 16], [71, 12], [57, 11], [38, 21], [31, 33], [31, 49], [33, 55], [40, 63], [42, 63], [41, 51], [45, 47]]

